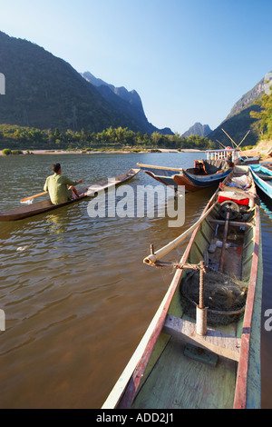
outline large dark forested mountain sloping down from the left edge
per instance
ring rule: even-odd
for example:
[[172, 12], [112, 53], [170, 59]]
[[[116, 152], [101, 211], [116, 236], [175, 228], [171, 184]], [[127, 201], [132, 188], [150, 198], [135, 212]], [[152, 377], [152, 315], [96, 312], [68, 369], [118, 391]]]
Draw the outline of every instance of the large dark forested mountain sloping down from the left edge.
[[[5, 74], [5, 95], [0, 96], [2, 124], [94, 133], [111, 126], [143, 134], [160, 132], [143, 114], [136, 91], [126, 101], [124, 88], [117, 95], [106, 85], [95, 87], [43, 47], [1, 31], [0, 73]], [[114, 102], [103, 94], [109, 90]]]

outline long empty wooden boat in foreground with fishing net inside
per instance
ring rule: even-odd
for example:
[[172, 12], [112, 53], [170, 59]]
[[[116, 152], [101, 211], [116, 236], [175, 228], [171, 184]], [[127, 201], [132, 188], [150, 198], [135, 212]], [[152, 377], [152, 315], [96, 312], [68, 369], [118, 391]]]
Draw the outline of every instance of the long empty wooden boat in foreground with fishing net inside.
[[[247, 191], [234, 186], [243, 179], [250, 180]], [[194, 231], [174, 265], [170, 287], [102, 409], [260, 407], [262, 258], [256, 202], [249, 167], [236, 166], [189, 229]], [[166, 267], [161, 256], [184, 235], [188, 233], [151, 253], [144, 263]], [[224, 288], [220, 284], [219, 294], [207, 295], [212, 274], [222, 275], [227, 287], [240, 281], [239, 292], [231, 293], [241, 305], [231, 313], [210, 308]], [[185, 292], [193, 283], [198, 285], [195, 301]]]

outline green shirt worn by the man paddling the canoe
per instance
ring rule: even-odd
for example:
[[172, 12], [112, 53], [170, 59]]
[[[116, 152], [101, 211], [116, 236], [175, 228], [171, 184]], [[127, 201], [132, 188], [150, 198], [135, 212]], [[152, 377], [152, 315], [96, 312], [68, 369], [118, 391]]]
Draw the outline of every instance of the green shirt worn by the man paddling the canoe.
[[67, 185], [76, 184], [79, 184], [78, 181], [72, 181], [65, 175], [54, 173], [46, 178], [44, 192], [49, 192], [53, 204], [64, 204], [72, 198], [71, 191], [68, 190]]

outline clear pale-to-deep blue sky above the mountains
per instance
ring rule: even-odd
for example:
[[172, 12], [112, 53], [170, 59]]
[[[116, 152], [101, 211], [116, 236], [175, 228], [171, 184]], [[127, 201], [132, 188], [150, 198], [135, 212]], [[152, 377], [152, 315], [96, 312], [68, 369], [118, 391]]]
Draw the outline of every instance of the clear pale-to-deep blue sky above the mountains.
[[0, 16], [6, 34], [135, 89], [180, 134], [217, 127], [272, 70], [271, 0], [8, 0]]

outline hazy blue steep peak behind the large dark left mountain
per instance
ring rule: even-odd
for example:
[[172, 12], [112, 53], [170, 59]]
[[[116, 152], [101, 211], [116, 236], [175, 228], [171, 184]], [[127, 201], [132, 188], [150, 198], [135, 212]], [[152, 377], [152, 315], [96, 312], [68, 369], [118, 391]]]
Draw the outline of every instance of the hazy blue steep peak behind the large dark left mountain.
[[153, 132], [173, 134], [169, 127], [158, 129], [148, 122], [144, 114], [141, 97], [135, 90], [129, 92], [123, 86], [115, 87], [113, 84], [108, 84], [102, 79], [95, 77], [90, 71], [86, 71], [82, 75], [89, 83], [96, 87], [108, 103], [112, 104], [121, 114], [127, 114], [131, 118], [132, 123], [134, 121], [141, 123], [144, 132], [147, 134], [152, 134]]

